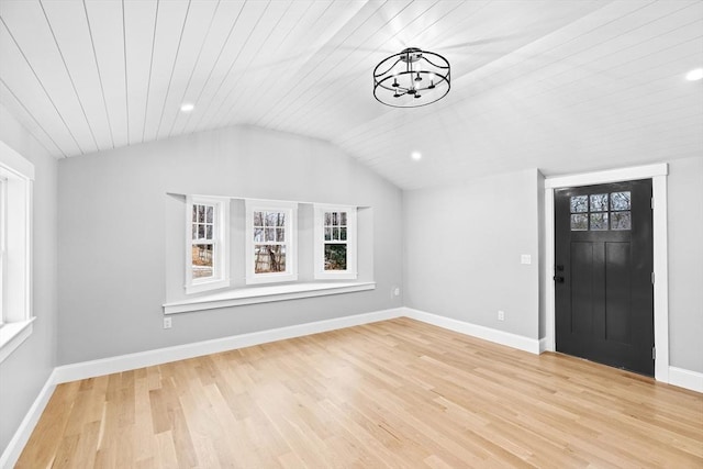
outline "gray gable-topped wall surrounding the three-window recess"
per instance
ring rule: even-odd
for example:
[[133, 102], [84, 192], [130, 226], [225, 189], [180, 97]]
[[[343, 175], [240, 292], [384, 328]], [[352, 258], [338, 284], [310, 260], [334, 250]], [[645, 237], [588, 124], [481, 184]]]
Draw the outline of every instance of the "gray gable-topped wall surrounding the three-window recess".
[[[324, 142], [236, 127], [58, 166], [59, 365], [402, 305], [402, 193]], [[164, 330], [168, 192], [370, 205], [377, 289], [183, 313]]]

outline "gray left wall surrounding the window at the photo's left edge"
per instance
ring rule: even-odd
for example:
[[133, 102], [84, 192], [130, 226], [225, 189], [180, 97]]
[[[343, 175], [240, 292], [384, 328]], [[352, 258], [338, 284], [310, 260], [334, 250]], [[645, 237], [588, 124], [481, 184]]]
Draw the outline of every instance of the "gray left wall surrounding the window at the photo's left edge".
[[56, 160], [0, 105], [0, 141], [34, 164], [33, 334], [0, 364], [0, 454], [56, 365]]

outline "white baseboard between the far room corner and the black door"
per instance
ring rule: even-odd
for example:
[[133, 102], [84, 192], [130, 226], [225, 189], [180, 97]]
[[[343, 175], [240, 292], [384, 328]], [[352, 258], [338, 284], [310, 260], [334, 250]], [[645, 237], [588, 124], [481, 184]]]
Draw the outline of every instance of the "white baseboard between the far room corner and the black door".
[[426, 313], [424, 311], [413, 310], [411, 308], [404, 308], [404, 311], [408, 317], [444, 327], [449, 331], [458, 332], [460, 334], [466, 334], [472, 337], [482, 338], [484, 340], [494, 342], [495, 344], [506, 345], [509, 347], [529, 351], [532, 354], [539, 354], [540, 351], [540, 344], [536, 338], [528, 338], [509, 332], [479, 326], [476, 324], [466, 323], [464, 321], [439, 316], [437, 314]]

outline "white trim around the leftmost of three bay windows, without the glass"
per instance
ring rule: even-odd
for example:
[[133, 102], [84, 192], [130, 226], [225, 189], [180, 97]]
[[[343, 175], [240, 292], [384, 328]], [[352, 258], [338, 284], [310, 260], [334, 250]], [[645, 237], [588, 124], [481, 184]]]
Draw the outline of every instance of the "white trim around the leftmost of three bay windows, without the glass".
[[[194, 279], [192, 276], [192, 206], [213, 205], [214, 209], [214, 257], [213, 277]], [[230, 287], [230, 199], [204, 196], [186, 197], [186, 294], [200, 293]]]

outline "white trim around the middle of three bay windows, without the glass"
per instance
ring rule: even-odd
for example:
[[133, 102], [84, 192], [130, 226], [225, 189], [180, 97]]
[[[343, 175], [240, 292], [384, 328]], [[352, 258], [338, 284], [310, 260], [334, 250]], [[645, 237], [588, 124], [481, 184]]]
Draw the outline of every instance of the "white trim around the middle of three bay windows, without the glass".
[[[245, 261], [246, 284], [274, 283], [298, 280], [298, 203], [246, 199]], [[286, 271], [256, 273], [254, 271], [254, 212], [287, 212]]]

